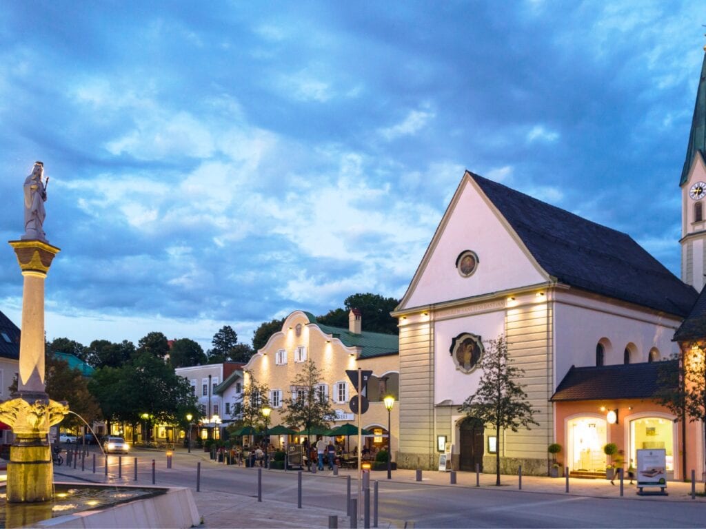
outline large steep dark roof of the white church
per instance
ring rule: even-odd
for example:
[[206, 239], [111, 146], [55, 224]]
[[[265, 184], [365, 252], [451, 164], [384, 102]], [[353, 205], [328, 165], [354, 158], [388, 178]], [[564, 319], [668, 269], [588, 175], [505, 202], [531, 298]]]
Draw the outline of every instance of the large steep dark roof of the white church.
[[626, 233], [469, 173], [527, 250], [559, 282], [685, 317], [696, 291]]

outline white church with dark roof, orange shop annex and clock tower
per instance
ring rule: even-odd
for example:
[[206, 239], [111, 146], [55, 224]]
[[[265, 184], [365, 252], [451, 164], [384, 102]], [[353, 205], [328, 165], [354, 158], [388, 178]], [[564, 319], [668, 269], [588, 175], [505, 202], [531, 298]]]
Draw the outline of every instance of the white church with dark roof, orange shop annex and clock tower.
[[[637, 449], [664, 448], [669, 478], [701, 475], [701, 423], [678, 421], [654, 396], [670, 365], [661, 360], [706, 337], [706, 299], [695, 306], [706, 274], [705, 77], [706, 57], [680, 181], [681, 279], [626, 233], [465, 172], [393, 312], [398, 466], [436, 468], [450, 444], [455, 469], [492, 472], [499, 451], [503, 473], [522, 464], [546, 475], [558, 443], [570, 472], [600, 474], [614, 442], [626, 463]], [[675, 338], [683, 325], [687, 341]], [[459, 411], [498, 336], [539, 412], [538, 426], [500, 439]]]

